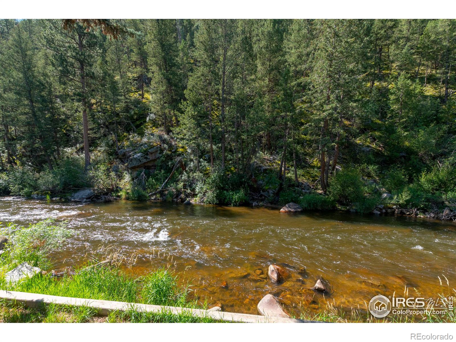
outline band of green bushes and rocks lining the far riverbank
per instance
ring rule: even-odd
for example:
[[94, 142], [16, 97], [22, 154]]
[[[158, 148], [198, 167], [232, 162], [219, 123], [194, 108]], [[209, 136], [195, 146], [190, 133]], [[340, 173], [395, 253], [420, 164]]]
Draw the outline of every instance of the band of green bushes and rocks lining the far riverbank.
[[78, 202], [119, 198], [181, 203], [264, 206], [299, 204], [304, 210], [347, 210], [353, 213], [426, 216], [456, 220], [456, 167], [450, 161], [423, 171], [410, 183], [401, 168], [337, 166], [326, 192], [318, 187], [318, 165], [287, 166], [277, 172], [280, 155], [261, 152], [249, 172], [198, 160], [169, 135], [132, 135], [116, 155], [99, 152], [84, 171], [82, 156], [69, 153], [53, 170], [27, 166], [0, 173], [0, 193], [44, 200]]

